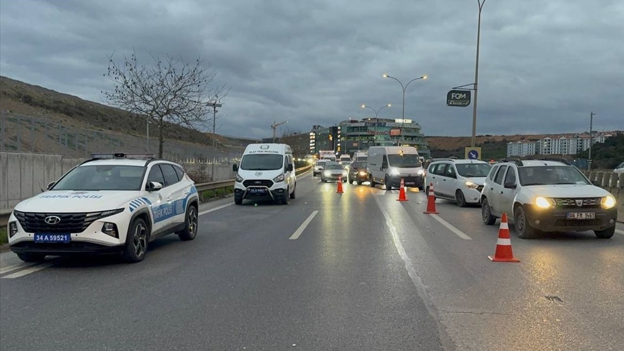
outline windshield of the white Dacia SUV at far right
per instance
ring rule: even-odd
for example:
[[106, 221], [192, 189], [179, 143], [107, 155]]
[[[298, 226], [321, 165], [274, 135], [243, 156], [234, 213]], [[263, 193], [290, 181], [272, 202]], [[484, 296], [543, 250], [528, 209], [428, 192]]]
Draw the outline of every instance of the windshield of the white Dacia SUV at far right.
[[518, 176], [522, 185], [590, 184], [572, 166], [518, 167]]

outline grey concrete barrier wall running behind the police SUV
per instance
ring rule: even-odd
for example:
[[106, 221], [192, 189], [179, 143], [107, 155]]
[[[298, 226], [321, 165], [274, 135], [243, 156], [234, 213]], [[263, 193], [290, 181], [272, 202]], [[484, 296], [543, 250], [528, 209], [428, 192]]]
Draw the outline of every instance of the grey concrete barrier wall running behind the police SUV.
[[[0, 152], [0, 214], [29, 197], [40, 194], [85, 159], [65, 159], [57, 154]], [[210, 174], [210, 164], [180, 162], [187, 172]], [[215, 164], [215, 180], [233, 179], [232, 166]]]

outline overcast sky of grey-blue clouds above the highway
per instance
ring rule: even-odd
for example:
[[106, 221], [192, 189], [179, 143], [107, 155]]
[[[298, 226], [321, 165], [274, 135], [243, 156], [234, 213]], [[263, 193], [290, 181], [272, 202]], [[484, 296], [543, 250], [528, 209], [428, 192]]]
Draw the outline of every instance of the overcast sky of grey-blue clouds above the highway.
[[[477, 0], [0, 0], [0, 74], [102, 102], [107, 55], [202, 56], [232, 87], [218, 132], [267, 137], [288, 120], [371, 117], [413, 82], [406, 118], [424, 134], [469, 136], [470, 107], [449, 88], [474, 82]], [[487, 0], [477, 134], [624, 129], [624, 1]], [[227, 115], [227, 118], [226, 118]]]

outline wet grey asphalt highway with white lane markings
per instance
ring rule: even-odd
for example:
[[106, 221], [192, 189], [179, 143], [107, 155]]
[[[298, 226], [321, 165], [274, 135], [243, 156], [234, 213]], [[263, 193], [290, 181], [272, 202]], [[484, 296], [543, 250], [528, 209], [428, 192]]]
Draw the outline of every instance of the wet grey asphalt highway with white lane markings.
[[205, 205], [197, 239], [156, 240], [139, 264], [2, 254], [0, 349], [623, 349], [622, 225], [512, 234], [521, 262], [494, 263], [478, 207], [335, 190], [308, 176], [290, 205]]

